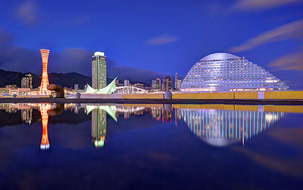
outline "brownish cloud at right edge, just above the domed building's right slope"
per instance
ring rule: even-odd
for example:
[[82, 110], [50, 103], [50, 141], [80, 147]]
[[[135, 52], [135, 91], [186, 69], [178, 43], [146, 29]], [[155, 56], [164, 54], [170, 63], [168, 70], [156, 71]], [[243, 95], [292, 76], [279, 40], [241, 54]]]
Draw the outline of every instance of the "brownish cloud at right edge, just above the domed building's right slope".
[[277, 70], [303, 70], [303, 46], [299, 51], [278, 57], [276, 60], [268, 64]]

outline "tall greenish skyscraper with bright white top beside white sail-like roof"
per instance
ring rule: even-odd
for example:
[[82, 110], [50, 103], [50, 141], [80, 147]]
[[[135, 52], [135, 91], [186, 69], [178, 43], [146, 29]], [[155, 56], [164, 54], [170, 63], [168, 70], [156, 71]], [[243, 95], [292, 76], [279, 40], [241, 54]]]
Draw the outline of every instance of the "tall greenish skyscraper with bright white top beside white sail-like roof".
[[94, 89], [106, 87], [107, 57], [103, 52], [95, 52], [91, 61], [91, 84]]

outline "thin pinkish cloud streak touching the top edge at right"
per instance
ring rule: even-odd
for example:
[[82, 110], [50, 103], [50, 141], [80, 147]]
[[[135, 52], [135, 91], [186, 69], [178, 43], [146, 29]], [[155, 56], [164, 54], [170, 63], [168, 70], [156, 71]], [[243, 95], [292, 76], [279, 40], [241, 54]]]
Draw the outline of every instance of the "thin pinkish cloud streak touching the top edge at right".
[[259, 11], [298, 2], [302, 0], [239, 0], [232, 6], [231, 11]]

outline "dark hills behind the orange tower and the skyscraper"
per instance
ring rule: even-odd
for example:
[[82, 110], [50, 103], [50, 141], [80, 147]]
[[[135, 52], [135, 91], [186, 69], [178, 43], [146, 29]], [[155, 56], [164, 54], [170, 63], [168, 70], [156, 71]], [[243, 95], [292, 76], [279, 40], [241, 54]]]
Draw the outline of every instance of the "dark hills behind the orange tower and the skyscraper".
[[[36, 75], [33, 73], [21, 73], [21, 72], [14, 72], [14, 71], [5, 71], [3, 69], [0, 69], [0, 87], [5, 87], [9, 84], [16, 84], [18, 87], [21, 87], [21, 78], [26, 77], [26, 74], [31, 74], [32, 79], [32, 85], [33, 88], [37, 88], [41, 84], [41, 75]], [[50, 84], [60, 84], [63, 87], [73, 87], [74, 84], [79, 84], [80, 89], [84, 89], [84, 85], [88, 83], [91, 85], [91, 77], [79, 74], [79, 73], [48, 73], [48, 81]], [[113, 79], [107, 78], [107, 83], [109, 84], [112, 82]], [[123, 83], [122, 80], [120, 80], [120, 83]], [[137, 83], [137, 81], [130, 81], [131, 84]], [[149, 86], [149, 84], [144, 82], [144, 86]]]

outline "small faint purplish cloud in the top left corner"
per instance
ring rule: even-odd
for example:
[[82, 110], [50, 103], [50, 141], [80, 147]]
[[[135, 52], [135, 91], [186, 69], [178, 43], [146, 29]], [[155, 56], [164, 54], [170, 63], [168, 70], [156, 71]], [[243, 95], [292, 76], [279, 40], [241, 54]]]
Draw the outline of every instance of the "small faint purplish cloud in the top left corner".
[[36, 4], [31, 0], [25, 1], [17, 8], [16, 17], [26, 25], [34, 24], [38, 18]]

